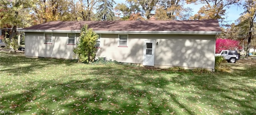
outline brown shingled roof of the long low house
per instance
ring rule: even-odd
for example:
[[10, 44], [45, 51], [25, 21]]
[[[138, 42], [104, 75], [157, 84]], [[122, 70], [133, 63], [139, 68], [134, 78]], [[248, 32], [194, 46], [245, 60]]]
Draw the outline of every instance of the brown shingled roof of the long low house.
[[80, 30], [84, 24], [99, 31], [221, 31], [218, 20], [53, 21], [21, 30]]

